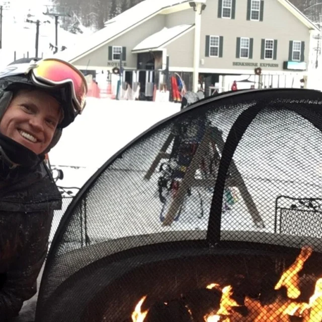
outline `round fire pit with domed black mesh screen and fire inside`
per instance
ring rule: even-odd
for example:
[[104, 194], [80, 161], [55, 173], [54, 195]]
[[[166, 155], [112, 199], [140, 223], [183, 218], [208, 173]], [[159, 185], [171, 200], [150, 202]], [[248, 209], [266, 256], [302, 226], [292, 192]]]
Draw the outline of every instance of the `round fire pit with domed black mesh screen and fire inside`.
[[321, 108], [228, 93], [143, 133], [64, 214], [36, 321], [322, 321]]

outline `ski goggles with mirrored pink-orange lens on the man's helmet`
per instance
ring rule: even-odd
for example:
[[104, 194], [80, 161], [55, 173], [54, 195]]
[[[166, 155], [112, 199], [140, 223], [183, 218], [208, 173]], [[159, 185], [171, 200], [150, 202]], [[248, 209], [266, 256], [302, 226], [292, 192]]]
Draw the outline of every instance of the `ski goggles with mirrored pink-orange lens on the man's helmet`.
[[88, 88], [86, 79], [81, 71], [73, 65], [56, 58], [39, 60], [30, 66], [28, 72], [30, 70], [32, 81], [36, 85], [52, 87], [69, 83], [74, 113], [76, 115], [82, 113], [86, 105]]

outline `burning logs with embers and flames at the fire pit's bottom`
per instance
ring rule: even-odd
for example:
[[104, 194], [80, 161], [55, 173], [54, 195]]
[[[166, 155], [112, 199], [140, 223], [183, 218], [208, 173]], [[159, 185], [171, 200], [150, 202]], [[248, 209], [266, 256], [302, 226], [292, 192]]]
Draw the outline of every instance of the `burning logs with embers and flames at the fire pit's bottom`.
[[[266, 290], [273, 294], [270, 300], [261, 300], [263, 294], [236, 294], [231, 285], [212, 283], [150, 307], [144, 307], [145, 295], [133, 311], [132, 322], [321, 322], [322, 278], [312, 280], [312, 276], [299, 274], [311, 255], [310, 247], [301, 249], [293, 264]], [[307, 293], [306, 279], [315, 287], [304, 301], [301, 294]]]

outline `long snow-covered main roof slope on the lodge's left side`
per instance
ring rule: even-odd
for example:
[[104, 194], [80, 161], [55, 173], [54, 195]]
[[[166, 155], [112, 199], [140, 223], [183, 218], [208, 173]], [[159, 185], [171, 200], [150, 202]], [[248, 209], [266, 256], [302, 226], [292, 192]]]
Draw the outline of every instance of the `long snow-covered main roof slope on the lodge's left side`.
[[79, 55], [105, 43], [109, 39], [115, 37], [119, 33], [139, 23], [145, 18], [156, 14], [160, 10], [188, 3], [191, 0], [145, 0], [138, 5], [130, 8], [115, 18], [109, 20], [103, 29], [93, 33], [85, 41], [79, 42], [72, 49], [68, 48], [63, 52], [57, 53], [55, 56], [67, 61], [76, 59]]

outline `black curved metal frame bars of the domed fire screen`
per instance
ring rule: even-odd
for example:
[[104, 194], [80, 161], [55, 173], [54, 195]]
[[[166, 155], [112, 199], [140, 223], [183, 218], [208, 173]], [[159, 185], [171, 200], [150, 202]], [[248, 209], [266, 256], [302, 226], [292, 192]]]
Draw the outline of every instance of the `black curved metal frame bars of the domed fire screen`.
[[[59, 226], [57, 228], [57, 231], [55, 233], [55, 236], [53, 238], [53, 241], [48, 253], [48, 257], [47, 257], [48, 260], [45, 265], [43, 278], [44, 279], [47, 278], [47, 275], [48, 275], [47, 270], [51, 266], [51, 261], [53, 258], [51, 255], [54, 252], [57, 244], [60, 242], [61, 237], [63, 236], [65, 229], [68, 226], [68, 220], [73, 210], [78, 206], [79, 202], [84, 203], [84, 206], [86, 208], [86, 197], [89, 189], [91, 189], [92, 185], [96, 182], [97, 178], [100, 177], [102, 173], [117, 158], [122, 157], [122, 154], [128, 148], [134, 145], [137, 141], [142, 140], [145, 137], [149, 136], [152, 131], [156, 131], [161, 127], [165, 127], [167, 123], [173, 122], [176, 119], [179, 119], [179, 117], [182, 117], [186, 113], [189, 114], [191, 111], [195, 109], [199, 109], [201, 110], [200, 112], [203, 113], [203, 111], [209, 110], [209, 105], [213, 106], [217, 101], [218, 101], [218, 105], [221, 104], [221, 101], [224, 101], [224, 100], [231, 101], [235, 96], [238, 97], [236, 99], [238, 99], [239, 102], [254, 100], [253, 97], [255, 93], [261, 93], [260, 100], [257, 100], [256, 104], [254, 104], [253, 106], [250, 106], [248, 109], [246, 109], [237, 117], [237, 119], [233, 123], [227, 135], [226, 141], [222, 147], [222, 154], [219, 162], [218, 174], [215, 181], [214, 193], [212, 196], [207, 236], [204, 241], [208, 246], [219, 247], [219, 245], [221, 244], [222, 246], [225, 245], [225, 242], [221, 241], [221, 210], [222, 210], [222, 203], [223, 203], [222, 199], [224, 194], [224, 186], [225, 186], [225, 181], [228, 174], [228, 168], [232, 164], [233, 154], [241, 138], [246, 132], [247, 128], [249, 127], [249, 125], [252, 123], [252, 121], [256, 118], [256, 116], [262, 109], [269, 107], [268, 102], [272, 102], [272, 100], [274, 100], [275, 98], [279, 100], [283, 98], [285, 98], [286, 100], [289, 100], [290, 98], [294, 98], [294, 99], [303, 100], [304, 103], [308, 100], [321, 101], [322, 100], [321, 92], [314, 91], [314, 90], [298, 90], [298, 89], [262, 89], [262, 90], [248, 90], [248, 91], [222, 93], [220, 95], [216, 95], [215, 97], [210, 97], [210, 98], [206, 98], [201, 101], [198, 101], [192, 104], [191, 106], [189, 106], [188, 108], [183, 109], [179, 113], [176, 113], [175, 115], [170, 116], [165, 120], [160, 121], [156, 123], [154, 126], [150, 127], [148, 130], [143, 132], [141, 135], [136, 137], [129, 144], [127, 144], [125, 147], [123, 147], [121, 150], [115, 153], [110, 159], [108, 159], [107, 162], [87, 181], [87, 183], [83, 186], [83, 188], [73, 198], [72, 202], [70, 203], [66, 212], [64, 213], [63, 218], [61, 219]], [[319, 106], [316, 106], [316, 107], [319, 108]], [[289, 105], [283, 106], [283, 108], [286, 110], [294, 111], [295, 113], [301, 115], [304, 119], [307, 119], [308, 121], [310, 121], [313, 126], [315, 126], [317, 129], [319, 129], [322, 132], [322, 122], [320, 122], [319, 117], [316, 117], [315, 110], [307, 109], [306, 107], [300, 106], [300, 104], [297, 104], [296, 106], [291, 106], [291, 104], [289, 104]], [[231, 167], [229, 168], [229, 170], [230, 169]], [[264, 223], [261, 220], [260, 216], [256, 218], [256, 222], [259, 225], [259, 227], [264, 227]], [[82, 236], [83, 235], [85, 236], [85, 245], [87, 245], [88, 243], [88, 241], [86, 240], [87, 239], [86, 227], [87, 227], [87, 220], [85, 215], [84, 224], [82, 225], [82, 228], [81, 228], [82, 230], [84, 230], [84, 233], [82, 231]], [[40, 289], [40, 292], [41, 292], [41, 289]]]

